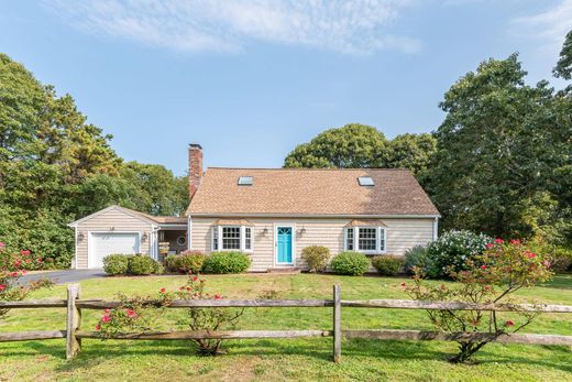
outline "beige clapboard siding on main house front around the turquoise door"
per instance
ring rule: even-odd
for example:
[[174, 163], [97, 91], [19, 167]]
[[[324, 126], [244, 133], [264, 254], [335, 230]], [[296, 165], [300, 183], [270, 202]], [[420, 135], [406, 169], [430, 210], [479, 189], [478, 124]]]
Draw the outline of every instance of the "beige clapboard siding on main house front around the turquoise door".
[[[194, 250], [210, 253], [211, 227], [220, 217], [194, 217], [191, 229], [191, 245]], [[343, 251], [343, 228], [352, 219], [320, 218], [320, 219], [272, 219], [248, 218], [253, 223], [254, 245], [251, 254], [252, 272], [265, 272], [275, 266], [274, 259], [274, 227], [279, 223], [295, 226], [295, 265], [302, 269], [306, 264], [301, 260], [301, 251], [309, 245], [327, 247], [332, 255]], [[403, 255], [415, 245], [425, 245], [433, 238], [432, 218], [388, 218], [382, 219], [387, 226], [387, 254]], [[306, 229], [299, 234], [301, 228]], [[268, 232], [264, 234], [264, 229]]]

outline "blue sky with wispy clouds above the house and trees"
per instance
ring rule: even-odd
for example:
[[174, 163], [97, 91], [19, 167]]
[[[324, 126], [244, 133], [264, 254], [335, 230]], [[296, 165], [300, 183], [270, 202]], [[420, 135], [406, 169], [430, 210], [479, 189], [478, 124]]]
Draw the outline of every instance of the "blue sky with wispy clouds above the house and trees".
[[206, 165], [277, 167], [350, 122], [432, 131], [460, 76], [519, 52], [530, 83], [549, 78], [570, 29], [572, 0], [0, 2], [1, 52], [122, 157], [176, 174], [189, 142]]

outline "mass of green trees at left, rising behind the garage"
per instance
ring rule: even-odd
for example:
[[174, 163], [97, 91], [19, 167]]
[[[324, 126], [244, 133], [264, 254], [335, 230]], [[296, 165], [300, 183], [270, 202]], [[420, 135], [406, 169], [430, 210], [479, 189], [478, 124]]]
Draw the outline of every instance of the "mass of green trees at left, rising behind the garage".
[[68, 266], [72, 220], [111, 204], [155, 215], [187, 207], [186, 177], [161, 165], [123, 163], [112, 137], [0, 54], [0, 239]]

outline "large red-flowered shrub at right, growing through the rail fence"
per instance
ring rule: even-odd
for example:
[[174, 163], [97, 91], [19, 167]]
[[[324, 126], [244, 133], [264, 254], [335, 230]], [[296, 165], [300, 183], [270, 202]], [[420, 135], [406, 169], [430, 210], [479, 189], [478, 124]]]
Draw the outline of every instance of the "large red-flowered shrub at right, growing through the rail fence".
[[[509, 304], [509, 295], [522, 288], [542, 283], [552, 276], [549, 261], [531, 252], [518, 240], [508, 243], [501, 239], [487, 243], [486, 250], [466, 260], [464, 270], [448, 268], [454, 284], [426, 285], [422, 271], [417, 269], [414, 284], [403, 283], [405, 292], [419, 301], [470, 302], [475, 304]], [[482, 334], [475, 339], [459, 340], [459, 353], [451, 361], [465, 362], [486, 343], [502, 335], [519, 331], [530, 324], [538, 312], [518, 310], [514, 307], [508, 317], [502, 319], [496, 312], [427, 310], [431, 323], [441, 331], [457, 334]]]

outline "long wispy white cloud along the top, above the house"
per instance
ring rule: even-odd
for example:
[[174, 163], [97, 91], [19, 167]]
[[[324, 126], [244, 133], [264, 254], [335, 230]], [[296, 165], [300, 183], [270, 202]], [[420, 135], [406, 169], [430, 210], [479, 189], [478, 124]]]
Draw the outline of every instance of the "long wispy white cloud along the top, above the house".
[[369, 54], [420, 42], [389, 26], [411, 0], [57, 0], [45, 6], [80, 30], [187, 52], [232, 52], [264, 41]]

